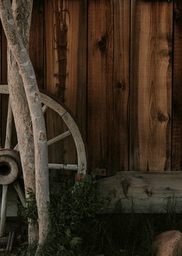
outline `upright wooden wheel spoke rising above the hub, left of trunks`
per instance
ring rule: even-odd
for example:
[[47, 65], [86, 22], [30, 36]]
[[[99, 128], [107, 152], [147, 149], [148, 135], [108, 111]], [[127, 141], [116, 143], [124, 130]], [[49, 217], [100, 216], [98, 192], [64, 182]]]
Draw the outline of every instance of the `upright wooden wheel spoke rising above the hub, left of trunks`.
[[10, 103], [10, 98], [9, 98], [5, 148], [10, 148], [11, 147], [12, 121], [13, 121], [13, 112], [12, 112], [12, 109], [11, 109], [11, 103]]

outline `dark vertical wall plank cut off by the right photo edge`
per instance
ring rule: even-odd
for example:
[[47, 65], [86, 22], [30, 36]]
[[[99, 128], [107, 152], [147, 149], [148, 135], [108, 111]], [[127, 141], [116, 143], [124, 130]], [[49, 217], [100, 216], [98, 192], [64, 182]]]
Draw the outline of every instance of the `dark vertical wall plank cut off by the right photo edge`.
[[182, 171], [182, 2], [174, 2], [172, 171]]

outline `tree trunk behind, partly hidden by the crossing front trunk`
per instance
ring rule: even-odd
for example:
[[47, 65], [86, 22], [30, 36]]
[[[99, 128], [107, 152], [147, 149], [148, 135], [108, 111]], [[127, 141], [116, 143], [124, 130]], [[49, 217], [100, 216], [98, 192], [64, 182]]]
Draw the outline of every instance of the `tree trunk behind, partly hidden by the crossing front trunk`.
[[[13, 0], [11, 5], [19, 35], [27, 52], [29, 51], [32, 6], [33, 0]], [[33, 132], [31, 130], [31, 115], [26, 99], [22, 76], [19, 74], [19, 67], [9, 45], [7, 58], [9, 95], [11, 99], [15, 127], [17, 130], [25, 192], [31, 188], [35, 194], [35, 156]], [[20, 109], [22, 111], [20, 111]], [[29, 198], [27, 193], [26, 198]], [[33, 224], [31, 219], [29, 219], [29, 245], [35, 243], [38, 243], [38, 227], [37, 225]]]

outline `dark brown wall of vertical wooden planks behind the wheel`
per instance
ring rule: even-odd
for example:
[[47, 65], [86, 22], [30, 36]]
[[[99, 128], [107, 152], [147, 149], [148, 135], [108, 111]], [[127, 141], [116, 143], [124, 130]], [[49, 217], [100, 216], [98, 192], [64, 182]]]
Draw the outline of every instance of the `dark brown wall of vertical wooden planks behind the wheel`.
[[[181, 0], [34, 0], [30, 56], [39, 88], [76, 115], [90, 168], [182, 170]], [[52, 114], [47, 126], [64, 129]]]

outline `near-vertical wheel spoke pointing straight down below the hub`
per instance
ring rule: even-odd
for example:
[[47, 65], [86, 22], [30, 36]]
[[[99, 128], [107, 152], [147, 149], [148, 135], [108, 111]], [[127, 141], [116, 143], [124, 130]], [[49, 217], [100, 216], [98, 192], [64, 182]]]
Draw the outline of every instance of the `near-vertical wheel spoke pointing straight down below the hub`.
[[8, 185], [2, 186], [0, 237], [4, 236], [7, 215]]

